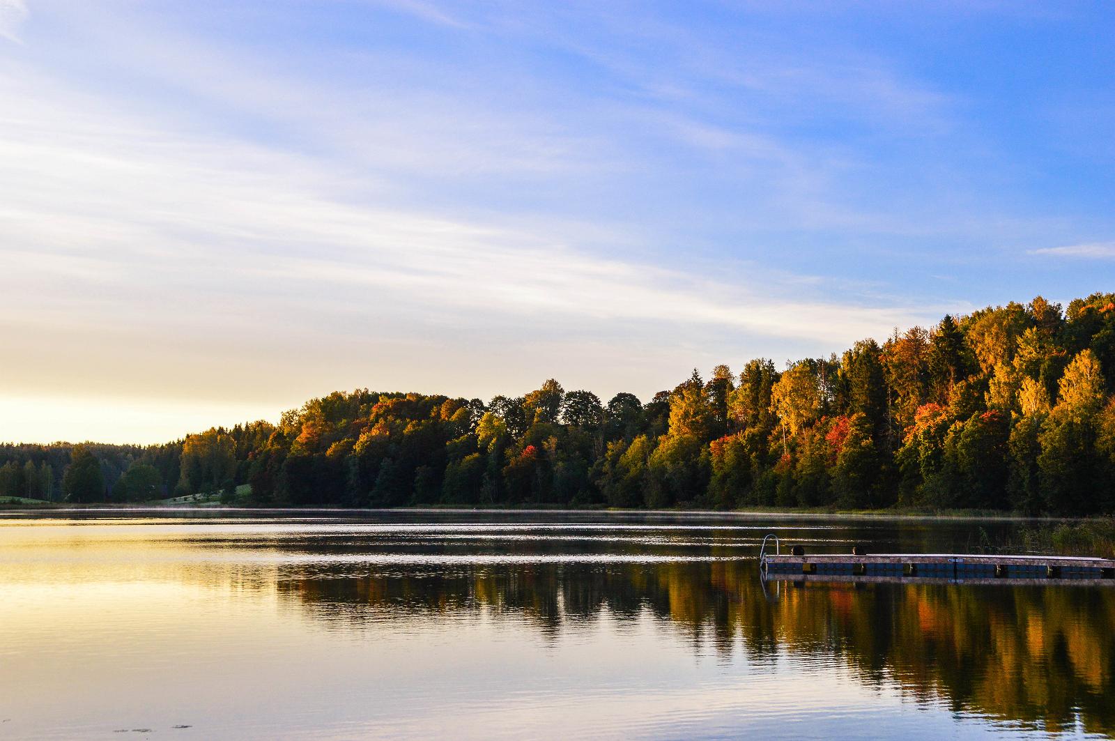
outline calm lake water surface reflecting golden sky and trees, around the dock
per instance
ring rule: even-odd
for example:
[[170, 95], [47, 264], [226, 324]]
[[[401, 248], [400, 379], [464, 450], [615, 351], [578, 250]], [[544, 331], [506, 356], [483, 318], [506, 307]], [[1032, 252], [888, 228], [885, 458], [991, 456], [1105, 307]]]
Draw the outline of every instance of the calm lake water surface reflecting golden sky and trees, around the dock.
[[0, 514], [0, 739], [1113, 738], [1115, 587], [758, 576], [1011, 527]]

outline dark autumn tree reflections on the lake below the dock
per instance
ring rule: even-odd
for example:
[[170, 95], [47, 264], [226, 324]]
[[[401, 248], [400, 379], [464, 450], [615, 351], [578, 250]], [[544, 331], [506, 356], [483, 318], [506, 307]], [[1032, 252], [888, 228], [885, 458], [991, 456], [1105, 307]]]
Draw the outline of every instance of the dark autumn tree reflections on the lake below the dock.
[[[338, 567], [340, 568], [340, 567]], [[316, 620], [527, 618], [590, 629], [652, 615], [729, 657], [838, 657], [860, 682], [956, 711], [1115, 731], [1115, 588], [768, 583], [753, 560], [498, 564], [280, 578]]]

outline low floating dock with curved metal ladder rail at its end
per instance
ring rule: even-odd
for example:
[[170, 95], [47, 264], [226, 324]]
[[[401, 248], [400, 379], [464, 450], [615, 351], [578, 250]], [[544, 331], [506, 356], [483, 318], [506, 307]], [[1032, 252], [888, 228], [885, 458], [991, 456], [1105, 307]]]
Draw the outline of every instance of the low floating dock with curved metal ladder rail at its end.
[[[777, 542], [777, 540], [776, 540]], [[864, 577], [869, 581], [971, 580], [993, 583], [997, 579], [1025, 579], [1046, 584], [1089, 580], [1115, 584], [1115, 559], [1082, 556], [1009, 556], [987, 554], [864, 554], [859, 548], [851, 554], [806, 555], [802, 546], [789, 554], [780, 547], [774, 554], [766, 550], [766, 539], [759, 551], [759, 568], [764, 577], [793, 576], [837, 577], [817, 580], [846, 580]]]

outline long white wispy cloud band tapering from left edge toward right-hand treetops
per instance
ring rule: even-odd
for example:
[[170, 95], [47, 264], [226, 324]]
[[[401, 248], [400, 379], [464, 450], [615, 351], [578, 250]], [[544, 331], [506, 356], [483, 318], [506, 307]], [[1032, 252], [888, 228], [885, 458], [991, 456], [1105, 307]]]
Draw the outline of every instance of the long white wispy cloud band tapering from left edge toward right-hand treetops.
[[[352, 202], [337, 195], [347, 175], [329, 161], [152, 131], [104, 112], [59, 115], [12, 80], [0, 90], [25, 100], [22, 125], [0, 137], [3, 251], [13, 269], [39, 281], [103, 285], [115, 276], [122, 304], [137, 278], [213, 285], [209, 261], [220, 260], [230, 288], [265, 295], [297, 283], [323, 306], [330, 287], [362, 285], [401, 304], [420, 296], [426, 306], [473, 311], [699, 323], [814, 340], [854, 339], [917, 318], [902, 307], [778, 298], [758, 271], [729, 283], [603, 258], [579, 247], [578, 229], [560, 219], [508, 225]], [[630, 240], [620, 225], [597, 231], [597, 240]], [[801, 289], [793, 277], [785, 283]]]

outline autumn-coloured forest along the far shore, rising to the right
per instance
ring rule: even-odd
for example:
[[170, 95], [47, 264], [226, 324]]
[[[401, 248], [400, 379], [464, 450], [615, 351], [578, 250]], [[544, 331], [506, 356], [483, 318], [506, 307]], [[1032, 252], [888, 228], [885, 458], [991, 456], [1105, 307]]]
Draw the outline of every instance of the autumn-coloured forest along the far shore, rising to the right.
[[1113, 391], [1115, 293], [1038, 297], [780, 369], [694, 371], [646, 403], [553, 379], [487, 403], [359, 389], [162, 445], [0, 445], [0, 497], [1111, 514]]

